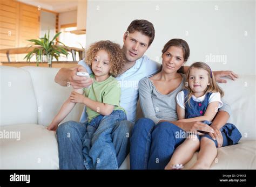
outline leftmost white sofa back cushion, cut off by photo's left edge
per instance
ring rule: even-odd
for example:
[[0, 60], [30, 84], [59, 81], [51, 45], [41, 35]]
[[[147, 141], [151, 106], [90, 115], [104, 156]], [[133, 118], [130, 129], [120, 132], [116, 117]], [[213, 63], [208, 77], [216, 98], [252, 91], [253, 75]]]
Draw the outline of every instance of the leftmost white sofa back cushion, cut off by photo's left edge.
[[0, 126], [38, 123], [37, 103], [28, 71], [0, 66]]

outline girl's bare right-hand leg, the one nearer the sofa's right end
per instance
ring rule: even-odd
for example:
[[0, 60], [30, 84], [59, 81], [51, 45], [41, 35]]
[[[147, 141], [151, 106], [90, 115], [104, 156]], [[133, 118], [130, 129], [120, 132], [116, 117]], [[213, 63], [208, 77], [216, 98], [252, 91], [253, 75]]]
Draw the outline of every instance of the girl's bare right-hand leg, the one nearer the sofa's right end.
[[191, 169], [209, 169], [216, 156], [217, 148], [215, 143], [206, 137], [202, 138], [197, 162]]

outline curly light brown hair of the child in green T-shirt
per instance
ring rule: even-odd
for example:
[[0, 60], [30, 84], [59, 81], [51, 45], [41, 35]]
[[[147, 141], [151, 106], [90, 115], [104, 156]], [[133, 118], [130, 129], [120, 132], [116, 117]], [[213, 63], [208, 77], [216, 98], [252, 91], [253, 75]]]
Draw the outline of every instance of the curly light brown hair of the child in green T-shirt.
[[92, 61], [95, 59], [96, 53], [100, 50], [105, 50], [110, 57], [110, 75], [117, 77], [121, 72], [125, 64], [125, 55], [120, 48], [119, 44], [116, 44], [110, 40], [102, 40], [92, 44], [86, 51], [85, 62], [88, 66], [92, 66]]

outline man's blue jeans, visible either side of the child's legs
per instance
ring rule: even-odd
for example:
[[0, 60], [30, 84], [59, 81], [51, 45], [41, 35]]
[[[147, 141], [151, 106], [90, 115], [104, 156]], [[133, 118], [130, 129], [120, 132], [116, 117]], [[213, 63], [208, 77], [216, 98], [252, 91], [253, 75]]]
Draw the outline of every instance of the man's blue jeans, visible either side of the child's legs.
[[[109, 120], [106, 120], [106, 122], [108, 123]], [[59, 169], [86, 169], [85, 167], [86, 162], [83, 154], [83, 149], [84, 149], [84, 138], [87, 132], [86, 130], [87, 126], [88, 126], [88, 123], [67, 121], [61, 124], [57, 128], [57, 139], [58, 139], [58, 149], [59, 149]], [[131, 134], [132, 126], [133, 126], [133, 123], [131, 123], [130, 121], [127, 121], [127, 120], [118, 121], [116, 123], [116, 126], [114, 126], [112, 128], [112, 131], [109, 133], [111, 134], [110, 138], [113, 142], [114, 150], [117, 156], [118, 167], [122, 164], [125, 157], [129, 153], [129, 147], [130, 147], [129, 137]], [[102, 130], [100, 126], [98, 127], [98, 129]], [[102, 134], [99, 132], [100, 131], [98, 131], [97, 133], [96, 131], [94, 133], [95, 138], [93, 139], [92, 137], [93, 142], [97, 140], [98, 135]], [[100, 145], [100, 143], [102, 142], [99, 141], [98, 145]], [[102, 153], [102, 155], [100, 155], [101, 159], [99, 161], [104, 161], [105, 154], [109, 154], [109, 153], [106, 153], [104, 151], [105, 147], [98, 147], [97, 149], [98, 149], [97, 152]], [[103, 169], [106, 169], [106, 168], [103, 168]]]

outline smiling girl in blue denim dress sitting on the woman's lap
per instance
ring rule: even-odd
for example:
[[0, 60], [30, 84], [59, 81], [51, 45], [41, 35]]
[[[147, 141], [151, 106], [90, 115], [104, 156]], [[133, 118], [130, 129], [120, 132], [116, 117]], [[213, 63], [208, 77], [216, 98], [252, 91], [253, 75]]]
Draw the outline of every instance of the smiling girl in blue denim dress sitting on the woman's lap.
[[[210, 67], [204, 62], [193, 63], [188, 69], [186, 81], [186, 89], [180, 91], [176, 97], [179, 121], [204, 121], [203, 123], [211, 125], [218, 109], [223, 106], [220, 98], [223, 97], [224, 92], [215, 82]], [[215, 133], [193, 134], [191, 132], [176, 148], [165, 169], [183, 168], [199, 148], [198, 160], [192, 169], [210, 168], [217, 156], [215, 137], [220, 133], [223, 135], [223, 146], [236, 144], [241, 138], [238, 129], [229, 123]]]

